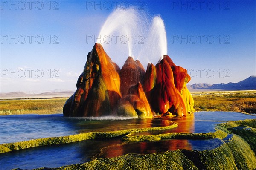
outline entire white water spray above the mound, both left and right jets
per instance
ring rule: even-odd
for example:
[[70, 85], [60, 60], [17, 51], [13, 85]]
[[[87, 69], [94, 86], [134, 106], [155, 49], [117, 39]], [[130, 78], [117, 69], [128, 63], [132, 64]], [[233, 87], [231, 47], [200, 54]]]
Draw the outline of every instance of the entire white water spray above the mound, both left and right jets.
[[[156, 64], [167, 54], [166, 30], [160, 16], [151, 18], [145, 11], [116, 9], [109, 15], [99, 33], [97, 43], [119, 65], [125, 63], [122, 56], [140, 59], [144, 68], [148, 62]], [[156, 45], [157, 44], [157, 45]]]

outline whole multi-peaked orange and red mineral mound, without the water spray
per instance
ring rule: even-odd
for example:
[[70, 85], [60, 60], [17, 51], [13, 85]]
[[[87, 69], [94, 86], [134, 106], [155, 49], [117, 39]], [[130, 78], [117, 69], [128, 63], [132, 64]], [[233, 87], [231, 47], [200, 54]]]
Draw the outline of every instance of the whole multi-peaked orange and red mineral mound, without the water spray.
[[[194, 101], [186, 88], [190, 76], [168, 55], [145, 72], [140, 61], [128, 57], [120, 70], [96, 43], [87, 55], [76, 92], [63, 107], [64, 116], [153, 116], [186, 115]], [[172, 114], [171, 114], [172, 113]]]

